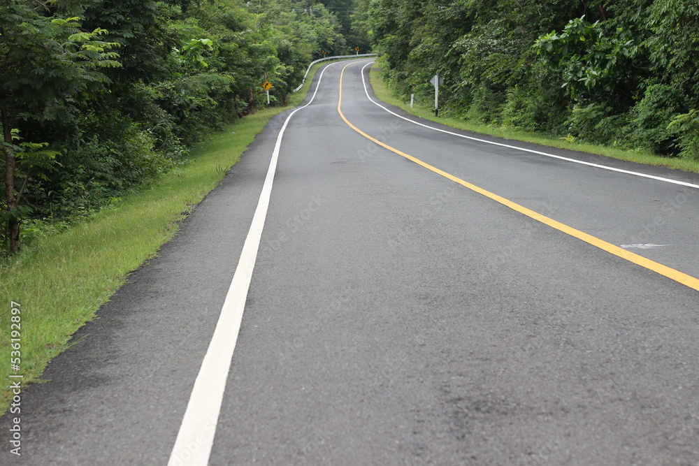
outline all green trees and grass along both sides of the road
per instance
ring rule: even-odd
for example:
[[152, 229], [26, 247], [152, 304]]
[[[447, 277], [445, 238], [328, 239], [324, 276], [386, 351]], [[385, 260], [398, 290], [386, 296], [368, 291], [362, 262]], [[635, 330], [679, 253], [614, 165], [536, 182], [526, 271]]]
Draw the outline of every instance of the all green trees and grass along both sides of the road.
[[3, 0], [0, 356], [21, 321], [22, 386], [301, 101], [308, 63], [355, 47], [420, 117], [438, 74], [440, 122], [699, 173], [693, 1]]

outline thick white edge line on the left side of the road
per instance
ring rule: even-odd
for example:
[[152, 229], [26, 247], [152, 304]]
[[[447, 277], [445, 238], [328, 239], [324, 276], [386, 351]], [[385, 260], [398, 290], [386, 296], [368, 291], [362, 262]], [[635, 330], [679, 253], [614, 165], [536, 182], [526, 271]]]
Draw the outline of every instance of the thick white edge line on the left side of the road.
[[323, 68], [322, 73], [320, 73], [318, 84], [310, 101], [303, 107], [299, 107], [291, 112], [279, 131], [259, 202], [257, 203], [257, 209], [252, 218], [250, 231], [248, 231], [247, 238], [245, 238], [245, 245], [243, 245], [243, 251], [240, 253], [238, 267], [226, 294], [226, 300], [216, 323], [211, 342], [199, 368], [199, 374], [197, 374], [194, 381], [192, 395], [189, 397], [187, 410], [182, 418], [182, 424], [180, 425], [177, 439], [175, 439], [168, 466], [205, 466], [208, 464], [226, 389], [226, 380], [228, 379], [233, 359], [233, 350], [236, 348], [240, 323], [243, 321], [247, 291], [250, 289], [250, 282], [252, 281], [252, 270], [257, 259], [257, 250], [267, 217], [282, 136], [284, 136], [284, 130], [287, 128], [287, 124], [291, 117], [294, 116], [294, 113], [308, 107], [315, 99], [323, 73], [329, 66], [333, 66], [333, 64]]

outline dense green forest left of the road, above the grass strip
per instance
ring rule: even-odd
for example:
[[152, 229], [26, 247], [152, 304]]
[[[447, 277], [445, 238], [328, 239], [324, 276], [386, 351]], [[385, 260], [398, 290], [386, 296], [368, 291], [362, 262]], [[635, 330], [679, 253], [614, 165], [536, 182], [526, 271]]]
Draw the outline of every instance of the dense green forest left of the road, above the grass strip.
[[[368, 47], [354, 0], [0, 0], [0, 243], [82, 219]], [[20, 229], [20, 225], [24, 228]]]

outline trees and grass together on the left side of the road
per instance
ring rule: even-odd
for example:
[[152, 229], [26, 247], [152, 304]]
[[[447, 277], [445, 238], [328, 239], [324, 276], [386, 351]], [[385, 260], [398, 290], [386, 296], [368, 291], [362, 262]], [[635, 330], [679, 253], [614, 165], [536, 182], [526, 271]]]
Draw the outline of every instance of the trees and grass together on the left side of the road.
[[0, 413], [10, 374], [37, 383], [266, 122], [301, 103], [308, 63], [352, 52], [345, 3], [0, 3]]

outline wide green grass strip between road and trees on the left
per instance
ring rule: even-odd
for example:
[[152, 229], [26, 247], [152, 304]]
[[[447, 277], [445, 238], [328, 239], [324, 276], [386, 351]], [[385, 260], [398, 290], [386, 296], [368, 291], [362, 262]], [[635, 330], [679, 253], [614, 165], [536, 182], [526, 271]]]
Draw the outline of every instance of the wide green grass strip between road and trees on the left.
[[[10, 383], [21, 380], [24, 388], [41, 381], [44, 368], [66, 349], [73, 333], [94, 319], [129, 272], [173, 238], [186, 214], [217, 186], [268, 120], [303, 101], [320, 66], [311, 70], [287, 107], [241, 119], [194, 150], [186, 166], [124, 196], [89, 221], [36, 240], [0, 266], [0, 414], [13, 398]], [[13, 314], [13, 307], [20, 313]], [[19, 358], [18, 372], [10, 358]]]

